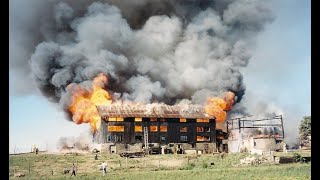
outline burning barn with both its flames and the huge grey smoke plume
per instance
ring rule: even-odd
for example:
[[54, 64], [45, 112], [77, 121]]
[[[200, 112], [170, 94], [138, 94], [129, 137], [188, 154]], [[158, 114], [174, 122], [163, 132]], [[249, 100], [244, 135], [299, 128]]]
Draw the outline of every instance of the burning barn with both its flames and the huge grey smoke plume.
[[[130, 149], [148, 140], [204, 152], [225, 145], [216, 122], [223, 123], [226, 111], [245, 95], [241, 69], [252, 55], [251, 38], [274, 19], [269, 6], [216, 0], [76, 2], [35, 3], [39, 8], [32, 8], [24, 26], [25, 18], [14, 16], [13, 29], [19, 28], [13, 32], [34, 31], [24, 43], [13, 41], [23, 53], [12, 56], [19, 64], [12, 67], [28, 72], [24, 77], [32, 77], [68, 120], [90, 124], [98, 143]], [[227, 98], [216, 98], [224, 92]], [[148, 105], [114, 105], [128, 101], [207, 104], [190, 113], [178, 106], [150, 112]], [[245, 111], [243, 106], [237, 113]]]

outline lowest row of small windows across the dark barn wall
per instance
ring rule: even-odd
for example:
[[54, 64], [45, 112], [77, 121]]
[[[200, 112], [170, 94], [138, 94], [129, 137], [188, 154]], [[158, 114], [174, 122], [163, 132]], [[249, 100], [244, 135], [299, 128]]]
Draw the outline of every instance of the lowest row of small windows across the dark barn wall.
[[[210, 136], [197, 136], [197, 141], [210, 141]], [[122, 141], [123, 137], [122, 135], [108, 135], [107, 137], [109, 142], [117, 142], [117, 141]], [[142, 136], [135, 136], [136, 141], [142, 141]], [[160, 136], [161, 141], [167, 141], [167, 136], [162, 135]], [[187, 142], [188, 141], [188, 136], [187, 135], [182, 135], [180, 136], [180, 142]]]

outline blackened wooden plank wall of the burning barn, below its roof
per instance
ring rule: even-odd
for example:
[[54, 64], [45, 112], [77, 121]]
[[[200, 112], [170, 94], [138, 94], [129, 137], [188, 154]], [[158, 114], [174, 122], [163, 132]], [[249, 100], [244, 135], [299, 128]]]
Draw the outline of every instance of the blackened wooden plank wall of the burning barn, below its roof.
[[[150, 118], [142, 118], [142, 122], [135, 122], [135, 118], [124, 118], [124, 121], [114, 122], [110, 121], [101, 124], [104, 127], [101, 127], [100, 134], [104, 138], [99, 138], [100, 143], [110, 142], [108, 141], [108, 136], [117, 136], [118, 140], [121, 136], [121, 143], [133, 144], [133, 143], [143, 143], [143, 127], [148, 127], [149, 143], [189, 143], [196, 144], [199, 143], [196, 141], [197, 136], [209, 136], [209, 142], [216, 142], [216, 129], [215, 129], [215, 120], [210, 119], [209, 123], [199, 123], [196, 122], [196, 119], [187, 119], [187, 122], [180, 122], [179, 119], [165, 119], [164, 122], [161, 121], [161, 118], [157, 118], [156, 122], [150, 121]], [[124, 132], [108, 132], [107, 126], [124, 126]], [[160, 132], [160, 126], [166, 125], [167, 132]], [[142, 132], [135, 132], [135, 126], [142, 126]], [[150, 126], [157, 126], [157, 132], [150, 132]], [[180, 132], [180, 128], [187, 127], [187, 132]], [[210, 127], [210, 132], [197, 132], [196, 127]], [[186, 135], [188, 137], [187, 142], [182, 142], [180, 136]], [[142, 136], [142, 141], [136, 140], [136, 136]], [[166, 139], [161, 139], [161, 136], [165, 136]], [[104, 140], [103, 140], [104, 139]], [[200, 143], [209, 143], [208, 141]]]

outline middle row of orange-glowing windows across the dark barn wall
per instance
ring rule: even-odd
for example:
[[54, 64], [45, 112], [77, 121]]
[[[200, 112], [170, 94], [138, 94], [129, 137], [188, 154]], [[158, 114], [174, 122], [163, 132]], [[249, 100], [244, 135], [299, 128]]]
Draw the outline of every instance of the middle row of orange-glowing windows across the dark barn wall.
[[[149, 126], [150, 132], [158, 132], [158, 126]], [[160, 126], [160, 132], [167, 132], [167, 126]], [[210, 132], [210, 127], [197, 127], [197, 132]], [[142, 132], [142, 126], [134, 126], [135, 132]], [[124, 132], [124, 126], [108, 126], [108, 132]], [[181, 127], [180, 132], [188, 132], [188, 127]]]

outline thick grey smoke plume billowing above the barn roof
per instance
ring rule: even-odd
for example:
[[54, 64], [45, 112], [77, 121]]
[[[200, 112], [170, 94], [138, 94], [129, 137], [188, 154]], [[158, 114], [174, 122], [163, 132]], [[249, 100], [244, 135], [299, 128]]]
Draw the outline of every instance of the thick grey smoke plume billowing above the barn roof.
[[239, 103], [245, 94], [239, 69], [249, 63], [250, 41], [273, 20], [268, 4], [255, 0], [32, 0], [10, 6], [24, 7], [10, 20], [10, 66], [30, 71], [41, 92], [65, 110], [71, 103], [67, 86], [89, 88], [99, 73], [121, 100], [204, 104], [232, 91]]

